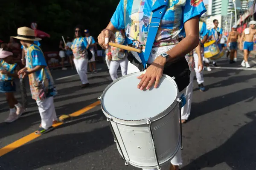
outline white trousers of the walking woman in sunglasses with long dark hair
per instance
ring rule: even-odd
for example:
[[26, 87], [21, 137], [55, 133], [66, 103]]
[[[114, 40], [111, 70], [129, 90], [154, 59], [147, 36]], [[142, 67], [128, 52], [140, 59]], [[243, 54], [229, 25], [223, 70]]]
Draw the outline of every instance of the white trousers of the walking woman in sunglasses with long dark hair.
[[74, 59], [74, 64], [76, 66], [76, 71], [81, 79], [82, 84], [88, 83], [87, 78], [87, 66], [88, 66], [88, 59]]

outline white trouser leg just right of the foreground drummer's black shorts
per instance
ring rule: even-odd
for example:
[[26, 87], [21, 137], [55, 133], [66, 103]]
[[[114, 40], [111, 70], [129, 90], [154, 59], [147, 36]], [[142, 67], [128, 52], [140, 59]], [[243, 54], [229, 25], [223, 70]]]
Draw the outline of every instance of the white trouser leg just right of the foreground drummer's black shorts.
[[193, 79], [194, 79], [195, 72], [194, 70], [190, 70], [190, 82], [189, 85], [186, 87], [186, 105], [181, 108], [181, 119], [187, 120], [189, 119], [190, 111], [191, 111], [191, 104], [192, 104], [192, 94], [193, 94]]

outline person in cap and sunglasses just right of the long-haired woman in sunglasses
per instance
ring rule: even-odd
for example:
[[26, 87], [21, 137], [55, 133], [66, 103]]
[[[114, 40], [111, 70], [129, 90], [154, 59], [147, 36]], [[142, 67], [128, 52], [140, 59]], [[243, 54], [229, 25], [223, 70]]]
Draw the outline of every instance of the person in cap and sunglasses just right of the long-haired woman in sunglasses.
[[90, 52], [93, 54], [93, 57], [89, 60], [90, 72], [97, 73], [96, 62], [95, 62], [95, 49], [94, 49], [96, 48], [96, 42], [94, 38], [90, 36], [90, 32], [87, 29], [84, 30], [84, 35], [89, 44]]

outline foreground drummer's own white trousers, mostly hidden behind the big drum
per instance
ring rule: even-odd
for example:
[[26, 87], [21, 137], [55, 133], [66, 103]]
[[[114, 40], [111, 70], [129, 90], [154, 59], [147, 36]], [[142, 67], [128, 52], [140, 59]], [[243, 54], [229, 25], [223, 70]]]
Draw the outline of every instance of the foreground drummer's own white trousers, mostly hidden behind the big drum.
[[[160, 47], [160, 48], [153, 48], [152, 51], [154, 50], [154, 54], [151, 53], [148, 63], [151, 63], [157, 56], [168, 51], [171, 48], [173, 48], [173, 45]], [[133, 55], [138, 59], [138, 61], [141, 61], [140, 58], [138, 57], [137, 53], [133, 53]], [[131, 74], [131, 73], [135, 73], [135, 72], [140, 72], [139, 68], [137, 68], [135, 65], [131, 64], [131, 62], [129, 61], [127, 73]], [[178, 150], [175, 157], [170, 162], [173, 165], [178, 165], [178, 166], [182, 165], [182, 156], [181, 156], [180, 149]], [[157, 168], [154, 168], [154, 169], [145, 169], [144, 168], [143, 170], [157, 170]]]

